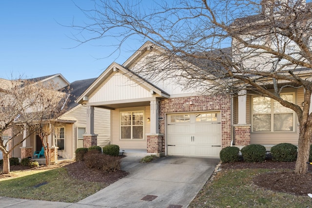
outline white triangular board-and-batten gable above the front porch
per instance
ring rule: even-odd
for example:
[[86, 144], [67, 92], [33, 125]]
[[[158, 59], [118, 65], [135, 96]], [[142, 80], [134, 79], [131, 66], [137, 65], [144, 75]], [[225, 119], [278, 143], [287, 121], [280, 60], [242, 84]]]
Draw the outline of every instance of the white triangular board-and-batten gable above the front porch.
[[98, 91], [89, 96], [89, 103], [139, 99], [153, 96], [149, 90], [139, 84], [121, 73], [113, 73], [101, 84]]

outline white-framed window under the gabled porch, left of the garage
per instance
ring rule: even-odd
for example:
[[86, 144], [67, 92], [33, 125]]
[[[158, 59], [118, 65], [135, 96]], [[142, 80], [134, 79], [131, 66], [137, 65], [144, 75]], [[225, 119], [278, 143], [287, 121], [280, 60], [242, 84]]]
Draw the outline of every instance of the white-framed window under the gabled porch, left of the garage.
[[120, 139], [143, 139], [143, 111], [120, 113]]

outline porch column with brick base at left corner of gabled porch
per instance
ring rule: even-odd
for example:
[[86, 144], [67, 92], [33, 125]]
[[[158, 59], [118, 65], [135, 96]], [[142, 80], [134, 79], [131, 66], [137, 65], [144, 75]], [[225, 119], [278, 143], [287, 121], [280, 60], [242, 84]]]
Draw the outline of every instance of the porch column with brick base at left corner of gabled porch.
[[87, 127], [83, 135], [83, 147], [98, 145], [98, 134], [94, 134], [94, 106], [87, 106]]

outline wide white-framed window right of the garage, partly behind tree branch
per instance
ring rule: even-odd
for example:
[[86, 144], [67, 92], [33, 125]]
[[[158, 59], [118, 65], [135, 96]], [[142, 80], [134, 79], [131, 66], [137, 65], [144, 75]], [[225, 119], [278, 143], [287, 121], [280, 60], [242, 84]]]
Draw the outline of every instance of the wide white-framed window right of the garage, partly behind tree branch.
[[[294, 103], [294, 93], [280, 95]], [[294, 132], [295, 113], [269, 97], [254, 96], [252, 99], [253, 132]]]

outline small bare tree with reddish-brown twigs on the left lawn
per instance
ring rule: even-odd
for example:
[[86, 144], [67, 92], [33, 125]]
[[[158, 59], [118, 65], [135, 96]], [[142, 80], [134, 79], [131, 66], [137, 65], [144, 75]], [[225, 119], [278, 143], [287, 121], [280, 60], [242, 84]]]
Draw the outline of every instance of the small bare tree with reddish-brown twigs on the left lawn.
[[[33, 133], [44, 132], [43, 124], [59, 116], [62, 111], [61, 107], [63, 107], [67, 95], [55, 91], [55, 88], [51, 89], [51, 86], [24, 79], [0, 80], [2, 173], [10, 173], [9, 154], [14, 148], [18, 147]], [[61, 107], [59, 107], [60, 105]], [[25, 131], [26, 129], [28, 131]], [[12, 131], [13, 135], [8, 140], [4, 140], [2, 135], [7, 131]], [[23, 138], [13, 144], [14, 138], [20, 134], [23, 134]], [[9, 143], [12, 144], [10, 147]]]

